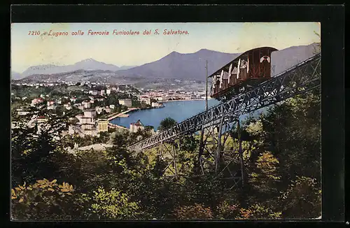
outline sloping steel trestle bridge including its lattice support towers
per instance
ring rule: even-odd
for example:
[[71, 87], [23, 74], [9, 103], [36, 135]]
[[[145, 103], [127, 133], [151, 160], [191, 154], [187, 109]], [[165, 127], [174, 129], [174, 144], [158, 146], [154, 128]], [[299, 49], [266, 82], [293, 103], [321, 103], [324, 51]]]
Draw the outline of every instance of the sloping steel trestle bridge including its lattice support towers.
[[[181, 175], [176, 164], [175, 140], [185, 135], [201, 131], [199, 164], [202, 173], [208, 167], [214, 167], [215, 171], [223, 178], [234, 180], [235, 185], [239, 180], [244, 180], [244, 161], [239, 148], [226, 150], [225, 142], [233, 124], [237, 123], [239, 129], [239, 116], [251, 113], [260, 108], [284, 101], [297, 94], [321, 87], [321, 53], [297, 64], [277, 76], [260, 83], [257, 87], [245, 93], [238, 94], [232, 99], [208, 108], [193, 117], [175, 124], [168, 129], [144, 139], [129, 147], [134, 152], [141, 152], [149, 148], [159, 146], [159, 155], [170, 157], [166, 169], [170, 169], [172, 175]], [[205, 134], [204, 134], [205, 132]], [[169, 145], [172, 148], [169, 148]], [[240, 166], [233, 167], [233, 164], [240, 163]]]

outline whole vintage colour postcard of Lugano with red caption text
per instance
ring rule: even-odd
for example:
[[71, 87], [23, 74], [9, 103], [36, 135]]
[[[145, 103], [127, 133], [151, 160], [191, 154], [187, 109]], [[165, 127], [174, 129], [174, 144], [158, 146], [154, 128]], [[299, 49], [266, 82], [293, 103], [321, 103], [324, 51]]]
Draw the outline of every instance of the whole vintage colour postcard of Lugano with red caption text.
[[321, 23], [11, 24], [13, 220], [321, 219]]

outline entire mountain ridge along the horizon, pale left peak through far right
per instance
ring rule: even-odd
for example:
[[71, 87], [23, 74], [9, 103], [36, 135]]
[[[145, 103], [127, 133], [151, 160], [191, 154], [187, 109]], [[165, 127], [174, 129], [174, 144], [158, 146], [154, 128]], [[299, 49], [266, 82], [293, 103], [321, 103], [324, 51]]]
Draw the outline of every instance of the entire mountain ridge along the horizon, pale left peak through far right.
[[[272, 52], [272, 62], [274, 65], [274, 74], [281, 73], [299, 62], [308, 59], [313, 55], [315, 49], [315, 43], [310, 45], [298, 45], [291, 46], [276, 52]], [[66, 66], [56, 66], [54, 64], [45, 64], [29, 67], [24, 73], [22, 78], [30, 75], [44, 77], [45, 75], [57, 74], [57, 76], [63, 76], [63, 73], [70, 75], [69, 72], [75, 72], [79, 69], [83, 70], [91, 80], [94, 78], [94, 73], [110, 73], [111, 77], [136, 77], [136, 78], [163, 78], [163, 79], [179, 79], [179, 80], [204, 80], [206, 76], [206, 60], [208, 60], [208, 75], [214, 73], [217, 69], [220, 69], [228, 62], [241, 55], [240, 53], [225, 53], [217, 52], [215, 50], [208, 50], [202, 48], [193, 53], [179, 53], [176, 51], [170, 52], [165, 57], [162, 57], [154, 62], [148, 62], [140, 66], [116, 66], [113, 64], [106, 64], [104, 62], [98, 62], [95, 59], [88, 58], [83, 59], [76, 64]], [[64, 67], [62, 71], [62, 68]], [[38, 69], [38, 70], [35, 70]], [[30, 72], [31, 71], [31, 72]], [[47, 72], [50, 73], [47, 73]], [[78, 73], [78, 72], [76, 72]], [[18, 73], [13, 72], [12, 78], [18, 78]], [[80, 76], [77, 75], [79, 78]], [[50, 77], [52, 78], [52, 77]], [[85, 77], [86, 78], [86, 77]], [[96, 76], [99, 78], [99, 76]], [[110, 78], [110, 77], [109, 77]], [[18, 78], [21, 79], [21, 78]]]

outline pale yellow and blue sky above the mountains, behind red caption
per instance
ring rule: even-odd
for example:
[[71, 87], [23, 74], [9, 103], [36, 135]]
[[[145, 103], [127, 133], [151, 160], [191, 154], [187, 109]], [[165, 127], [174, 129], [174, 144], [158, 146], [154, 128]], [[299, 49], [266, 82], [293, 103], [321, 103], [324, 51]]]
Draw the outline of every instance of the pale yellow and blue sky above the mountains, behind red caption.
[[[109, 31], [109, 35], [87, 35], [89, 29]], [[139, 31], [140, 34], [113, 35], [114, 29]], [[151, 35], [143, 35], [150, 29]], [[159, 34], [154, 34], [155, 29]], [[180, 29], [188, 34], [164, 35], [164, 29]], [[83, 36], [71, 34], [79, 30], [84, 32]], [[68, 32], [68, 36], [48, 35], [59, 31]], [[62, 66], [89, 58], [116, 66], [139, 66], [161, 59], [172, 51], [193, 53], [203, 48], [226, 53], [241, 53], [260, 46], [281, 50], [319, 42], [320, 38], [314, 32], [321, 34], [320, 23], [13, 23], [11, 70], [22, 73], [29, 66]]]

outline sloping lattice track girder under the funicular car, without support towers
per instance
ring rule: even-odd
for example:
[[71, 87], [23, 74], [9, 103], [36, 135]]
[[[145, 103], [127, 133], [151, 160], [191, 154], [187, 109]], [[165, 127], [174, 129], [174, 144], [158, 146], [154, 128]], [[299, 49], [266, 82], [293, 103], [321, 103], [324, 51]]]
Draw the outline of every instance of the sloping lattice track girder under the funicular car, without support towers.
[[129, 149], [142, 150], [170, 138], [200, 131], [204, 125], [214, 124], [214, 122], [220, 121], [222, 117], [233, 122], [240, 115], [275, 104], [297, 94], [314, 90], [317, 87], [321, 87], [321, 53], [260, 83], [258, 87], [252, 90], [239, 94], [229, 101], [209, 108], [208, 111], [202, 111], [183, 122], [135, 143]]

